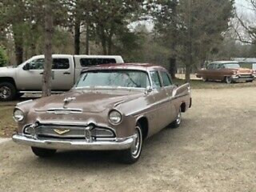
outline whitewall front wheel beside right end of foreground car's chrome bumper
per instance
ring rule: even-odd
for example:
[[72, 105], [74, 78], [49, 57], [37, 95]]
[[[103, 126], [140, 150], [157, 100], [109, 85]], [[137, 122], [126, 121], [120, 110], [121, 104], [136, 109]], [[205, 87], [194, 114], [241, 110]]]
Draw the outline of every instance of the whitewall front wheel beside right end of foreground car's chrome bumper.
[[121, 160], [126, 164], [133, 164], [138, 161], [142, 153], [142, 128], [140, 125], [135, 127], [134, 143], [128, 150], [122, 150]]

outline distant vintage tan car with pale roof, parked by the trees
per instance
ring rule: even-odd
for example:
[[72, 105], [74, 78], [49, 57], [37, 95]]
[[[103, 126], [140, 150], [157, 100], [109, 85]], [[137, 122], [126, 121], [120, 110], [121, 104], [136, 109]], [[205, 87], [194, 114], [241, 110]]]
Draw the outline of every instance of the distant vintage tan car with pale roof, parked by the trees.
[[211, 62], [206, 68], [198, 70], [197, 78], [202, 78], [204, 82], [208, 80], [231, 82], [253, 82], [254, 70], [242, 68], [238, 62], [223, 61]]

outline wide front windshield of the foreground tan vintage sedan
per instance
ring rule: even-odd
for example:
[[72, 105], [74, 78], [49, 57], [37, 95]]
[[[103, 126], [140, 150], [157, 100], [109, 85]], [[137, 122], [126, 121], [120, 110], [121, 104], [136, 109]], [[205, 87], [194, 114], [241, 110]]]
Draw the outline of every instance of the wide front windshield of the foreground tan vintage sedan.
[[150, 80], [142, 70], [94, 70], [82, 74], [75, 88], [92, 86], [146, 88]]

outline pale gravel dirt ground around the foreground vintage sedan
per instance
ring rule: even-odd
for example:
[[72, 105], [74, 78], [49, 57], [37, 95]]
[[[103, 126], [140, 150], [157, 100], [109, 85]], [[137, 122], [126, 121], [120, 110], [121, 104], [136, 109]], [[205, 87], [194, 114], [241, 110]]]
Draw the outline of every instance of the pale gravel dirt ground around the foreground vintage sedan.
[[0, 144], [0, 191], [256, 191], [256, 90], [193, 90], [182, 126], [148, 139], [128, 166], [114, 152], [40, 159]]

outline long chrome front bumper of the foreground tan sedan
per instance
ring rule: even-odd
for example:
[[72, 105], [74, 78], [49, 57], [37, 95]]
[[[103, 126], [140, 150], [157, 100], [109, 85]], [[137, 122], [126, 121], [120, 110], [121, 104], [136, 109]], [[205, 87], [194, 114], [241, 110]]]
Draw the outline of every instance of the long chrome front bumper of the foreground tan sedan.
[[126, 150], [134, 143], [134, 136], [91, 142], [86, 142], [86, 140], [40, 139], [23, 134], [14, 134], [12, 138], [14, 142], [22, 145], [54, 150]]

